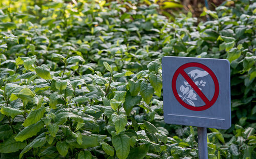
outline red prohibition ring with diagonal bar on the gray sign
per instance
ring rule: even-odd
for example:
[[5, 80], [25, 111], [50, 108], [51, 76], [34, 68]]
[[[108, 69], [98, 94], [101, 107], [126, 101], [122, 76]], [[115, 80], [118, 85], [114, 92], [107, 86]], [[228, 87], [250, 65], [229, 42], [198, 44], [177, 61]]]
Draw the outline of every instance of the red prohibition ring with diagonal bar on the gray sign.
[[[199, 68], [205, 70], [206, 72], [208, 72], [208, 74], [211, 76], [212, 80], [214, 81], [214, 85], [215, 85], [214, 97], [212, 97], [211, 100], [209, 100], [203, 94], [203, 92], [199, 89], [199, 87], [193, 82], [193, 80], [184, 71], [187, 67], [199, 67]], [[183, 76], [183, 78], [190, 84], [190, 86], [195, 90], [195, 92], [198, 94], [198, 96], [204, 101], [205, 105], [199, 106], [199, 107], [194, 107], [194, 106], [191, 106], [191, 105], [185, 103], [179, 97], [178, 92], [177, 92], [177, 88], [176, 88], [176, 81], [177, 81], [177, 78], [178, 78], [179, 74], [181, 74]], [[212, 72], [209, 69], [209, 67], [207, 67], [206, 65], [204, 65], [202, 63], [197, 63], [197, 62], [185, 63], [185, 64], [183, 64], [182, 66], [179, 67], [179, 69], [174, 73], [173, 80], [172, 80], [172, 88], [173, 88], [174, 96], [178, 100], [178, 102], [182, 106], [184, 106], [185, 108], [187, 108], [189, 110], [194, 110], [194, 111], [206, 110], [206, 109], [210, 108], [212, 105], [214, 105], [214, 103], [218, 99], [219, 90], [220, 90], [219, 82], [218, 82], [218, 79], [217, 79], [216, 75], [214, 74], [214, 72]]]

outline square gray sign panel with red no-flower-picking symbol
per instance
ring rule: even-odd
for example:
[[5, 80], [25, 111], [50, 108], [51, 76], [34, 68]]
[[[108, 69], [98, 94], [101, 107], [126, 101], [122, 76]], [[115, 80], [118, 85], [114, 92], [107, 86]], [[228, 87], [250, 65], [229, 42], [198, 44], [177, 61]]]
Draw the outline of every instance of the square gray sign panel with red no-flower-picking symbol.
[[165, 56], [162, 74], [165, 123], [231, 126], [228, 60]]

